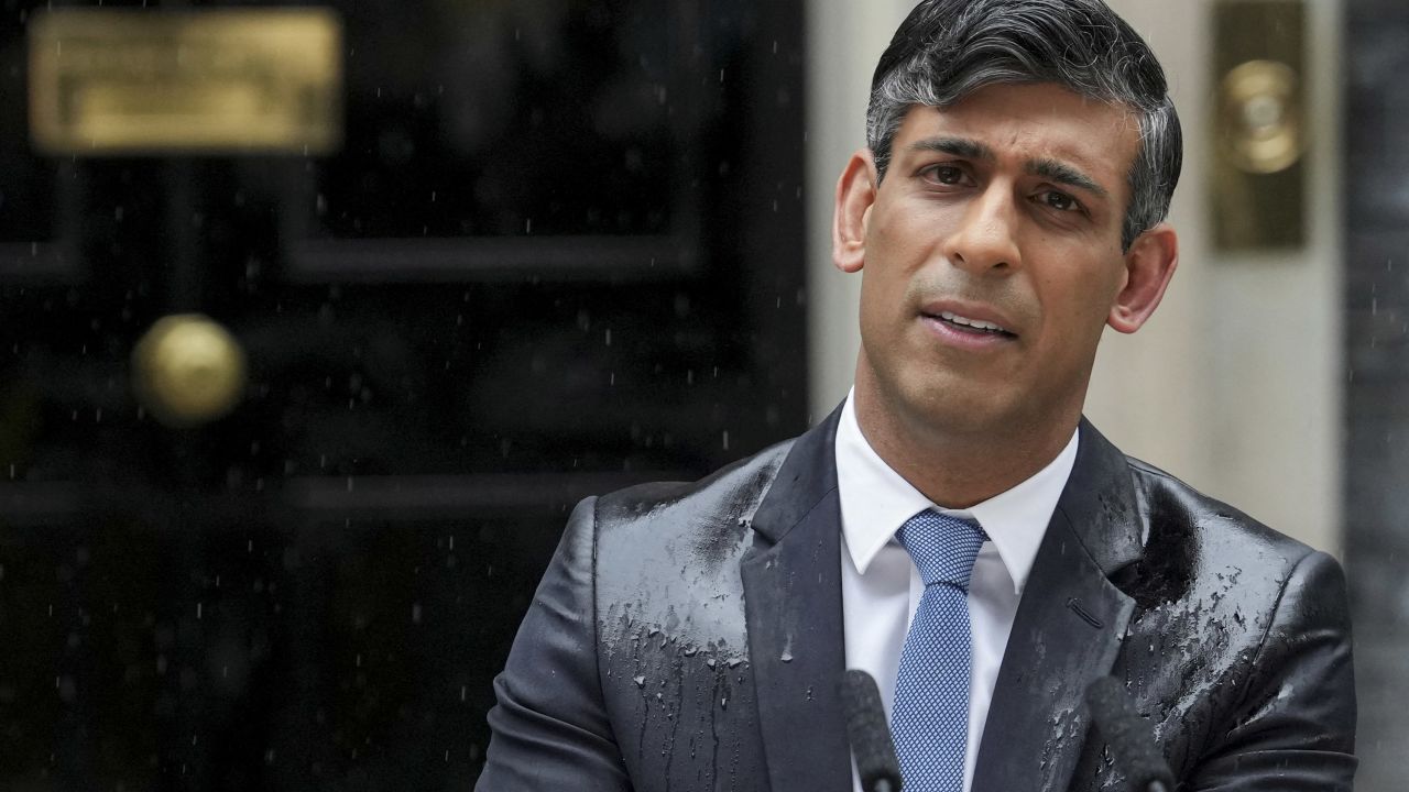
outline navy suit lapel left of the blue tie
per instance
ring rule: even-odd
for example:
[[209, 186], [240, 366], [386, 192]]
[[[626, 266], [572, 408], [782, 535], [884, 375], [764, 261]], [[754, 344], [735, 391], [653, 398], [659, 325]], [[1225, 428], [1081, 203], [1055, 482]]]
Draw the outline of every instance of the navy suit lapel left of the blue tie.
[[844, 792], [851, 750], [837, 685], [841, 619], [838, 412], [793, 444], [741, 561], [748, 654], [772, 792]]

